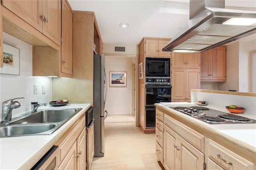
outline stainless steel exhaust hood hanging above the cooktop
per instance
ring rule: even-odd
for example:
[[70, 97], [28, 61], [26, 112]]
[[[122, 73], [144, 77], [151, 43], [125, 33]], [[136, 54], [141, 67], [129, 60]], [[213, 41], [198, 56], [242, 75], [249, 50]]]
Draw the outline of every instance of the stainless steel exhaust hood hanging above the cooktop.
[[190, 0], [189, 10], [163, 51], [202, 52], [256, 33], [256, 12], [226, 9], [225, 0]]

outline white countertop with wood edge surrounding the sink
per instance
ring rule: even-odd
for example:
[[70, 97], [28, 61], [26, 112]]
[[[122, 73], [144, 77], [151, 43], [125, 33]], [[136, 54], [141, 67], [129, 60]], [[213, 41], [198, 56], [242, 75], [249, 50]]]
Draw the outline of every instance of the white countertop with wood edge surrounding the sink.
[[82, 108], [53, 134], [0, 138], [0, 169], [30, 169], [89, 108], [90, 103], [69, 103], [65, 106], [45, 106], [42, 109]]

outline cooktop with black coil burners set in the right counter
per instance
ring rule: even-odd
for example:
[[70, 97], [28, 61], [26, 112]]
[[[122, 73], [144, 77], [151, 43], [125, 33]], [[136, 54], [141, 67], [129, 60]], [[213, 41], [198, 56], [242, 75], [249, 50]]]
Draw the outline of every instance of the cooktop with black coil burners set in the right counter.
[[208, 109], [207, 107], [179, 106], [170, 108], [209, 124], [256, 123], [254, 119]]

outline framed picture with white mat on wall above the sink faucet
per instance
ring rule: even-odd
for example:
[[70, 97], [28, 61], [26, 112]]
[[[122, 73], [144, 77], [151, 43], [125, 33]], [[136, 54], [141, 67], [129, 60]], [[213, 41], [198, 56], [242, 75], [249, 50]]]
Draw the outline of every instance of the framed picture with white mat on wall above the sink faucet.
[[20, 75], [20, 49], [3, 43], [4, 65], [0, 73]]

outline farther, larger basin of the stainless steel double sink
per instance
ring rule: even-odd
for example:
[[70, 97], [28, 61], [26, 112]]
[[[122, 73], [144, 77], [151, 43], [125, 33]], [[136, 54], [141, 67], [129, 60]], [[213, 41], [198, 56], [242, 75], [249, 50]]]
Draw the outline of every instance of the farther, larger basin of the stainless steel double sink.
[[8, 124], [57, 123], [70, 119], [77, 111], [78, 109], [42, 110], [27, 117], [11, 121]]

